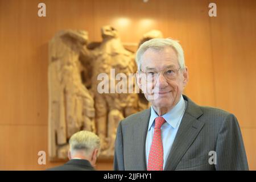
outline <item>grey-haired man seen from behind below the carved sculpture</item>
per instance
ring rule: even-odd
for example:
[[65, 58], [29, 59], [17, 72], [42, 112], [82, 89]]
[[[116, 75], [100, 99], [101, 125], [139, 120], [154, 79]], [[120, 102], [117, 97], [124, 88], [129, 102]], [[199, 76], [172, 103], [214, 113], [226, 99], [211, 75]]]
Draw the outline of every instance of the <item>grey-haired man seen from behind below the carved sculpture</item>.
[[90, 131], [79, 131], [69, 139], [69, 162], [49, 171], [94, 171], [100, 150], [100, 138]]

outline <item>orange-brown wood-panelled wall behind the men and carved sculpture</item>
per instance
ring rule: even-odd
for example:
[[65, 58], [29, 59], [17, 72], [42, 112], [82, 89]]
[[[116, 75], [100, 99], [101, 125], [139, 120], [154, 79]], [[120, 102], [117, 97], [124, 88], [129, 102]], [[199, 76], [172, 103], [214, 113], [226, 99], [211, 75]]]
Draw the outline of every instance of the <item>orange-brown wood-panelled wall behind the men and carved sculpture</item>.
[[[37, 16], [39, 2], [46, 3], [46, 18]], [[209, 2], [217, 3], [215, 18], [208, 16]], [[255, 170], [255, 17], [254, 0], [0, 0], [0, 169], [60, 164], [37, 163], [38, 151], [47, 151], [47, 43], [66, 28], [100, 41], [100, 27], [112, 24], [122, 42], [138, 42], [152, 28], [180, 40], [190, 74], [185, 93], [237, 116]], [[112, 169], [112, 163], [98, 163], [98, 169]]]

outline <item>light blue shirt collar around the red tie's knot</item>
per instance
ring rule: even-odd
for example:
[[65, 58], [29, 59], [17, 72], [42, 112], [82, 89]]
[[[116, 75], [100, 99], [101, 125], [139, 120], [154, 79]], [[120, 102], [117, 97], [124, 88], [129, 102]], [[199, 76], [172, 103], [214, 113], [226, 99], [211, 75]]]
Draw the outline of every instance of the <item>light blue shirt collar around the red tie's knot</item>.
[[[183, 115], [185, 110], [185, 101], [183, 96], [181, 95], [180, 101], [172, 108], [168, 113], [162, 115], [162, 117], [166, 120], [166, 122], [171, 125], [173, 128], [177, 127], [177, 123], [179, 122], [179, 118], [181, 115]], [[148, 131], [151, 129], [152, 125], [154, 124], [155, 118], [159, 117], [158, 114], [156, 114], [155, 110], [151, 106], [151, 115], [150, 115], [150, 121], [148, 123]]]

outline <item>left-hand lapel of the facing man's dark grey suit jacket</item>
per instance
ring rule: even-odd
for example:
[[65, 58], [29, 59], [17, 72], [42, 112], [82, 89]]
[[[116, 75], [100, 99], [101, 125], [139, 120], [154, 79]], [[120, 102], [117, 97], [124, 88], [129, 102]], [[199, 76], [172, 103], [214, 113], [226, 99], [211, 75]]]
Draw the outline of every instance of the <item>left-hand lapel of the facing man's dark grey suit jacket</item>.
[[[145, 171], [146, 167], [146, 156], [145, 156], [145, 144], [146, 144], [146, 137], [147, 137], [147, 129], [148, 129], [148, 122], [150, 119], [150, 109], [145, 110], [138, 122], [138, 125], [133, 125], [133, 140], [134, 140], [134, 147], [133, 147], [133, 156], [135, 159], [134, 163], [136, 164], [136, 169]], [[134, 168], [134, 169], [135, 169]]]

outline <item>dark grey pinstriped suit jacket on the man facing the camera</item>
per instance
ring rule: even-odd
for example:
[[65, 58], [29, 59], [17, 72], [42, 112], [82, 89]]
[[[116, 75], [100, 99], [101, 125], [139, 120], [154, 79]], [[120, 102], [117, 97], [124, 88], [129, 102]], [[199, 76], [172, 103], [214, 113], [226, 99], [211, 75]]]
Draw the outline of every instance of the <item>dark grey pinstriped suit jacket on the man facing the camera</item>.
[[[196, 105], [187, 96], [183, 95], [183, 98], [187, 101], [187, 108], [164, 170], [247, 170], [245, 148], [236, 117], [224, 110]], [[114, 170], [146, 170], [145, 144], [149, 119], [150, 109], [147, 109], [119, 123]], [[215, 161], [213, 155], [216, 156]]]

